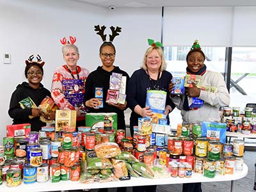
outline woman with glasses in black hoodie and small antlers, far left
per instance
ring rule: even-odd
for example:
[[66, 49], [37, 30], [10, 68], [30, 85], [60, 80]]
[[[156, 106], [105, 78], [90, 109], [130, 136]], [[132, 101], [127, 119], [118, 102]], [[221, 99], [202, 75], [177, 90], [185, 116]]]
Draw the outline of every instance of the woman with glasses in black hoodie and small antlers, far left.
[[13, 124], [31, 124], [31, 131], [39, 131], [41, 127], [46, 125], [45, 122], [40, 120], [40, 116], [43, 115], [47, 120], [54, 120], [55, 113], [52, 112], [46, 115], [42, 113], [41, 109], [22, 109], [20, 106], [20, 102], [25, 101], [28, 97], [30, 97], [30, 101], [33, 100], [35, 107], [39, 106], [46, 96], [51, 97], [51, 92], [40, 83], [44, 75], [43, 66], [45, 62], [41, 60], [39, 55], [36, 57], [37, 61], [33, 61], [33, 58], [34, 56], [31, 55], [26, 60], [25, 76], [28, 82], [18, 84], [16, 90], [12, 93], [8, 113], [13, 118]]

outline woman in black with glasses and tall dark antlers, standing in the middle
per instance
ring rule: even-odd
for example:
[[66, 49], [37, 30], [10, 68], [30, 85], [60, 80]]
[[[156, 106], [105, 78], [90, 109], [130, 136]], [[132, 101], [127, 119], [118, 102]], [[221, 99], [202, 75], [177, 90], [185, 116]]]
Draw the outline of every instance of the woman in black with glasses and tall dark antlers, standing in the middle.
[[[106, 42], [106, 35], [104, 30], [106, 26], [95, 26], [97, 35], [102, 38], [103, 44], [100, 45], [99, 57], [102, 61], [102, 66], [91, 72], [86, 80], [84, 104], [88, 108], [90, 113], [116, 113], [117, 114], [117, 126], [118, 129], [125, 129], [124, 110], [126, 109], [126, 102], [124, 104], [106, 102], [106, 96], [109, 89], [109, 79], [113, 73], [122, 74], [126, 77], [126, 84], [129, 81], [129, 75], [124, 70], [120, 70], [119, 67], [114, 66], [116, 49], [112, 44], [115, 36], [118, 36], [122, 28], [113, 26], [110, 27], [112, 35], [109, 35], [109, 42]], [[95, 88], [103, 88], [103, 99], [100, 101], [95, 98]], [[99, 108], [101, 103], [103, 108]]]

